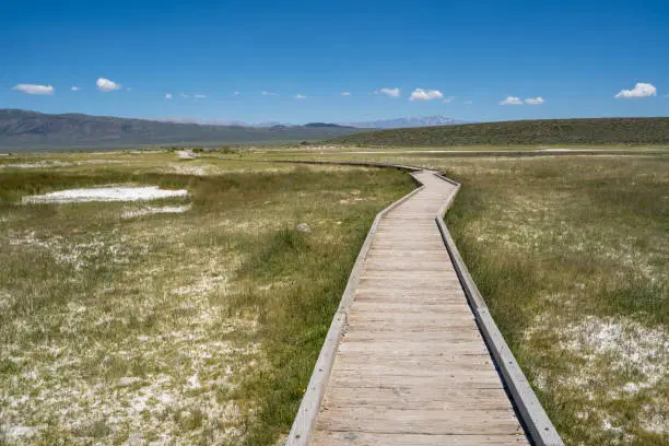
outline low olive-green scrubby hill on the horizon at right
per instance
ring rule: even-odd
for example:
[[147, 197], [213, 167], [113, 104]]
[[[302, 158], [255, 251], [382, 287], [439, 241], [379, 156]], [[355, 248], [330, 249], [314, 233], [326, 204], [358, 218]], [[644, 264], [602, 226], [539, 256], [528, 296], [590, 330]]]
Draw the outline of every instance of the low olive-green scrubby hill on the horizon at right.
[[482, 122], [368, 131], [329, 142], [369, 146], [669, 144], [669, 118]]

